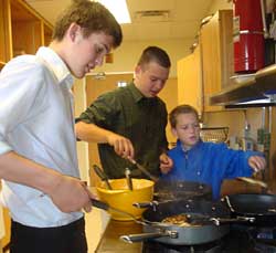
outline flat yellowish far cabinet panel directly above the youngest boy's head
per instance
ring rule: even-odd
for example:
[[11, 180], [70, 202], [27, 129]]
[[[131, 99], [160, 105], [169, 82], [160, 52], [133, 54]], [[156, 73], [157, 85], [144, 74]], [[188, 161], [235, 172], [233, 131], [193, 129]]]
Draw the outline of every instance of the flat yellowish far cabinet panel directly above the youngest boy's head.
[[178, 104], [189, 104], [202, 112], [202, 70], [198, 46], [194, 52], [178, 61]]

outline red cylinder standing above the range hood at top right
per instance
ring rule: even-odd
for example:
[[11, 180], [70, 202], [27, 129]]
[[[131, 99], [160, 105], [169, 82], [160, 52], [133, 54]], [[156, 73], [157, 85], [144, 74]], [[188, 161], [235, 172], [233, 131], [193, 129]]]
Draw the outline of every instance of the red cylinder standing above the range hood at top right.
[[264, 67], [262, 0], [234, 0], [234, 71], [254, 73]]

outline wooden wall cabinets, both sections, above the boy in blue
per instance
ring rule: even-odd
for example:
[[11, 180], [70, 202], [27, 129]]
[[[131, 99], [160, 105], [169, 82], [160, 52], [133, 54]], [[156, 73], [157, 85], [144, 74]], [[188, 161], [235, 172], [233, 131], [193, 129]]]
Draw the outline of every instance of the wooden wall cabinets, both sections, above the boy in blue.
[[200, 30], [194, 52], [178, 62], [178, 103], [199, 113], [222, 110], [209, 97], [230, 85], [233, 68], [233, 13], [220, 10]]

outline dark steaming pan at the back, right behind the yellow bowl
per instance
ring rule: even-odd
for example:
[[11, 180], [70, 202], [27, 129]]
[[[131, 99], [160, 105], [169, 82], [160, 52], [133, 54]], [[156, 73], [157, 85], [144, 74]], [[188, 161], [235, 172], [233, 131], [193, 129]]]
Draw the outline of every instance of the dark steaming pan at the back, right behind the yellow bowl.
[[153, 198], [158, 201], [180, 199], [212, 200], [212, 188], [201, 182], [159, 179], [155, 183]]

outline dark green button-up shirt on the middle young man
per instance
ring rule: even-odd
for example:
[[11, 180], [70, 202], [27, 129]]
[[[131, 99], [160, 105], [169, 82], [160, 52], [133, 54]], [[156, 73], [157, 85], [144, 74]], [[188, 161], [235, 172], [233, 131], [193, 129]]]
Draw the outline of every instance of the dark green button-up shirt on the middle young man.
[[[159, 156], [167, 150], [166, 126], [168, 113], [159, 98], [146, 98], [131, 83], [100, 95], [78, 120], [94, 123], [105, 129], [129, 138], [135, 159], [152, 175], [160, 176]], [[102, 166], [109, 178], [125, 177], [125, 169], [136, 178], [147, 178], [136, 166], [120, 158], [108, 144], [98, 144]]]

